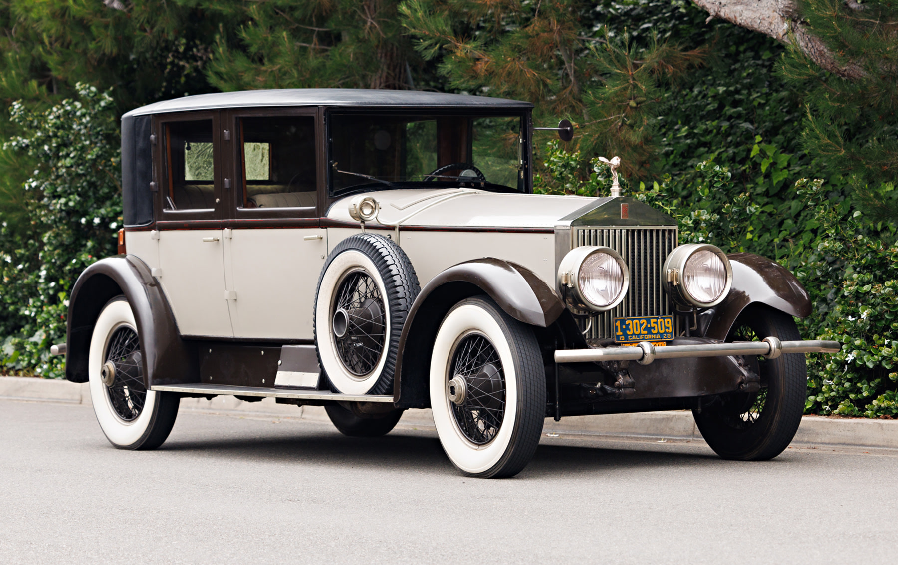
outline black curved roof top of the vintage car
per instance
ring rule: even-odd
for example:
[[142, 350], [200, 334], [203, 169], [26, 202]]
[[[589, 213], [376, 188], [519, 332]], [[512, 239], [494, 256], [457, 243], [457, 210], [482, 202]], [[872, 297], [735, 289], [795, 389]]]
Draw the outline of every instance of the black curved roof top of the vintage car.
[[533, 108], [533, 104], [530, 102], [489, 98], [487, 96], [466, 96], [463, 94], [353, 88], [290, 88], [184, 96], [183, 98], [155, 102], [136, 110], [131, 110], [123, 118], [174, 111], [266, 106]]

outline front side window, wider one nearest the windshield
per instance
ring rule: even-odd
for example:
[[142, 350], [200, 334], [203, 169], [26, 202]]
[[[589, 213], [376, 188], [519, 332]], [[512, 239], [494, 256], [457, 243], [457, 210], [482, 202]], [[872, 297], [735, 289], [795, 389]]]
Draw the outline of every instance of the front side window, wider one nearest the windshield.
[[239, 130], [241, 207], [315, 207], [314, 119], [242, 118]]

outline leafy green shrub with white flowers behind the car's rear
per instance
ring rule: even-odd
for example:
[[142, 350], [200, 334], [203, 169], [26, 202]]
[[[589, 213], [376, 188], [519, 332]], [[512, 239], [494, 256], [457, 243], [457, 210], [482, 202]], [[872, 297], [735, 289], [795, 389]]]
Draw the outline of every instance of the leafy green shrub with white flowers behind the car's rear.
[[0, 229], [0, 365], [58, 376], [63, 360], [49, 347], [66, 337], [68, 296], [95, 260], [116, 253], [121, 221], [119, 124], [110, 93], [77, 84], [78, 96], [43, 111], [13, 104], [22, 134], [4, 151], [40, 165], [24, 183], [34, 233]]

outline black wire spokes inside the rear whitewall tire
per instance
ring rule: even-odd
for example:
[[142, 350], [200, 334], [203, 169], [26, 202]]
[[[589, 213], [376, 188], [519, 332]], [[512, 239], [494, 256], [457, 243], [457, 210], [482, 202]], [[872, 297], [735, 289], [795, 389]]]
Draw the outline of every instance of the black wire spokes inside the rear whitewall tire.
[[146, 402], [137, 332], [128, 326], [119, 327], [112, 333], [104, 357], [114, 367], [111, 383], [106, 384], [112, 409], [119, 418], [133, 421], [140, 416]]

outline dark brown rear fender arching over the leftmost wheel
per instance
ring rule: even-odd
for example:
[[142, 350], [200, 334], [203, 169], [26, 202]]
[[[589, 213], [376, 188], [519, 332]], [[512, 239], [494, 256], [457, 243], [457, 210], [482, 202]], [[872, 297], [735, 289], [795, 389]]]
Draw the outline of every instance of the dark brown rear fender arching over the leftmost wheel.
[[147, 387], [196, 381], [196, 356], [180, 339], [163, 289], [145, 262], [134, 255], [98, 260], [75, 281], [68, 305], [66, 378], [87, 382], [93, 326], [103, 306], [119, 295], [128, 298], [134, 313]]

